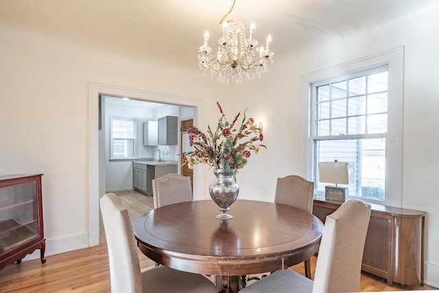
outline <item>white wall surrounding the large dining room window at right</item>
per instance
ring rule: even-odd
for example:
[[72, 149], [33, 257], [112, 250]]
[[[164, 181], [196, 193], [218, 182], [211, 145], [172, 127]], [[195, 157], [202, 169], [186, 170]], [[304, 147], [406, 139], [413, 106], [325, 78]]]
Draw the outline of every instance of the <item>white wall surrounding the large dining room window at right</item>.
[[[414, 13], [355, 36], [335, 36], [331, 43], [310, 47], [301, 54], [277, 58], [263, 82], [248, 83], [233, 92], [237, 109], [250, 106], [254, 116], [266, 119], [268, 151], [250, 158], [252, 169], [268, 169], [265, 184], [250, 181], [254, 172], [244, 169], [240, 195], [274, 196], [275, 178], [287, 174], [307, 176], [300, 166], [300, 78], [333, 65], [405, 46], [403, 94], [403, 207], [427, 211], [425, 228], [425, 283], [439, 287], [439, 5]], [[269, 84], [269, 85], [268, 85]], [[252, 99], [241, 99], [242, 96]], [[265, 99], [267, 97], [268, 99]], [[250, 102], [249, 102], [250, 101]], [[306, 142], [305, 142], [306, 143]], [[272, 167], [267, 167], [266, 161]], [[262, 191], [262, 192], [261, 192]]]

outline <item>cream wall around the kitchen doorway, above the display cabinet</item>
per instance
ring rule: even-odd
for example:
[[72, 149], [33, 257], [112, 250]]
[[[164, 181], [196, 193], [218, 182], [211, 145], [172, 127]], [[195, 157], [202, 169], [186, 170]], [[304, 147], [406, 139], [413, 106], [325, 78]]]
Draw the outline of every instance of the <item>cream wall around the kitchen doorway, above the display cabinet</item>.
[[[88, 246], [91, 82], [213, 105], [226, 96], [196, 60], [193, 72], [159, 67], [3, 25], [0, 38], [0, 174], [44, 174], [47, 255]], [[204, 110], [209, 121], [215, 108]]]

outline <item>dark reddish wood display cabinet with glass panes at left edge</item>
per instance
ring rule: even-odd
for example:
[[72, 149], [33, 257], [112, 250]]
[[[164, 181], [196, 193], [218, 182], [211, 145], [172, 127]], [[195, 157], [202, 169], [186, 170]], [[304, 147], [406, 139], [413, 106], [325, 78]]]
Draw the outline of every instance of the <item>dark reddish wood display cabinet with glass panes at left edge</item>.
[[43, 174], [0, 176], [0, 270], [40, 249], [45, 263]]

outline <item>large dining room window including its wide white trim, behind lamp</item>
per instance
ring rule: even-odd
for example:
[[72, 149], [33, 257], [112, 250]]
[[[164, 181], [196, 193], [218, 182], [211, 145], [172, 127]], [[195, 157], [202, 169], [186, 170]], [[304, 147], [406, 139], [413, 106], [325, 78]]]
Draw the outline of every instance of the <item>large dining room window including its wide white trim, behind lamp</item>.
[[[307, 168], [316, 194], [318, 163], [353, 163], [348, 196], [401, 206], [403, 48], [302, 78]], [[306, 97], [305, 97], [306, 95]], [[305, 109], [305, 108], [304, 108]]]

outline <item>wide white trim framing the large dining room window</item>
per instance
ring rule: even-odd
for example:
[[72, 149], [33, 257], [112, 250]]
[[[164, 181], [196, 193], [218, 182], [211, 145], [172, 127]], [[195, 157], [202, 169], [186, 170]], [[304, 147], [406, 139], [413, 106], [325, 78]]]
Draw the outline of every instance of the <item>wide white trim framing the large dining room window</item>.
[[360, 58], [341, 65], [335, 65], [313, 73], [302, 75], [300, 84], [300, 113], [302, 129], [300, 133], [300, 170], [313, 180], [313, 154], [310, 139], [311, 109], [310, 99], [314, 82], [346, 75], [355, 71], [388, 64], [388, 134], [385, 148], [385, 200], [362, 199], [365, 202], [402, 207], [402, 174], [403, 174], [403, 88], [404, 88], [404, 47], [396, 47], [388, 51]]

